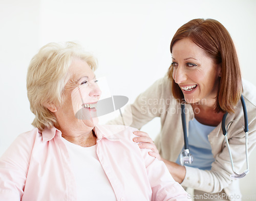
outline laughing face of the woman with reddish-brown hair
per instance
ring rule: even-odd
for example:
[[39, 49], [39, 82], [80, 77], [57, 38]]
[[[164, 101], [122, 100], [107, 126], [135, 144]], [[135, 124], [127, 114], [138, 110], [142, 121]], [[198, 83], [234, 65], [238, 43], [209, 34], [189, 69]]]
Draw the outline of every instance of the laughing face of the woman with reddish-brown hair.
[[172, 49], [173, 79], [187, 103], [210, 101], [218, 92], [221, 66], [189, 38], [178, 40]]

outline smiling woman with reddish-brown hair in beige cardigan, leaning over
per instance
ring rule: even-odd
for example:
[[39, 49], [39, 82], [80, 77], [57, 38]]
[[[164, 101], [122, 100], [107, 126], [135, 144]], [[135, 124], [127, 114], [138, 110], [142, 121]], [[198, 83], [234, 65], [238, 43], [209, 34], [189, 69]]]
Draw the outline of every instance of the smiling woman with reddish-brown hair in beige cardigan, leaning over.
[[[166, 76], [131, 105], [131, 126], [140, 129], [160, 117], [159, 135], [153, 142], [147, 133], [136, 131], [134, 141], [140, 148], [151, 149], [149, 154], [161, 159], [183, 187], [195, 189], [197, 200], [240, 200], [239, 181], [230, 177], [233, 172], [221, 121], [225, 113], [226, 126], [233, 121], [227, 138], [234, 169], [240, 173], [246, 161], [240, 98], [243, 95], [248, 112], [250, 153], [256, 144], [256, 87], [241, 78], [233, 41], [217, 20], [188, 21], [174, 35], [170, 53], [172, 64]], [[179, 162], [184, 147], [181, 103], [185, 104], [189, 150], [194, 156], [194, 162], [185, 166]]]

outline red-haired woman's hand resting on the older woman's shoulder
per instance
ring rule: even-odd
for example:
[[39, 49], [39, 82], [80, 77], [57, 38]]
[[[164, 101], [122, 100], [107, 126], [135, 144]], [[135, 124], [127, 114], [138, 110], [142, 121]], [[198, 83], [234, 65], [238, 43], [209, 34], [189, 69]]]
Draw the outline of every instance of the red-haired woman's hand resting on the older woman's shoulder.
[[134, 135], [138, 136], [133, 139], [134, 142], [138, 142], [140, 148], [151, 149], [152, 151], [148, 152], [152, 157], [155, 157], [161, 160], [160, 154], [154, 141], [148, 136], [146, 132], [143, 131], [134, 131]]

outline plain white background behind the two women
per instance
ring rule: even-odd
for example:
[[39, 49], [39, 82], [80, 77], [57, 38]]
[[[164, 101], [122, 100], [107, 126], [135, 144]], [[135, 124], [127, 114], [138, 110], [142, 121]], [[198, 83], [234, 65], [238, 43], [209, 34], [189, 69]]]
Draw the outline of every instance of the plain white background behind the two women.
[[[31, 130], [26, 92], [30, 59], [48, 42], [77, 41], [97, 58], [112, 95], [133, 102], [171, 63], [169, 43], [193, 18], [214, 18], [236, 45], [243, 78], [256, 85], [254, 0], [1, 0], [0, 155], [19, 133]], [[155, 119], [142, 130], [155, 138]], [[255, 184], [255, 183], [254, 183]]]

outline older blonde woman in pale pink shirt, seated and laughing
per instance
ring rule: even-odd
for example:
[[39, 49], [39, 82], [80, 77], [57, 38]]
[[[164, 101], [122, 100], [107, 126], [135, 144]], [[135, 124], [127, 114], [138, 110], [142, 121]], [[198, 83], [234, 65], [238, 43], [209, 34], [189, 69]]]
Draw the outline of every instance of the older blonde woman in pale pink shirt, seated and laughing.
[[97, 125], [95, 68], [72, 42], [49, 43], [32, 58], [35, 128], [0, 159], [0, 200], [188, 200], [164, 163], [132, 142], [136, 129]]

